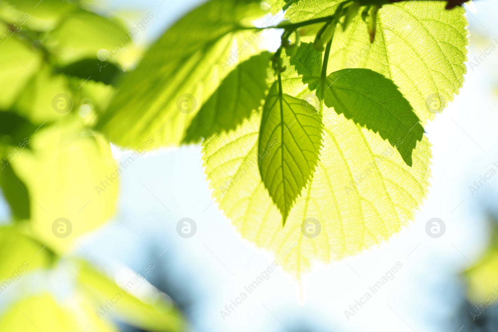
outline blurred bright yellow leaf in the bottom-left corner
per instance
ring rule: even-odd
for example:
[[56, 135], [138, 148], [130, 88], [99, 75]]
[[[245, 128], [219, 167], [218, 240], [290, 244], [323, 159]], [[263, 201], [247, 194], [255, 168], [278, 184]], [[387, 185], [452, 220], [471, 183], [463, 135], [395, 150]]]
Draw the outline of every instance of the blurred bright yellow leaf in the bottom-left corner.
[[[91, 327], [91, 330], [88, 329]], [[42, 293], [12, 305], [0, 319], [0, 330], [9, 332], [40, 331], [118, 332], [107, 320], [99, 320], [85, 297], [76, 294], [71, 302], [61, 305]]]

